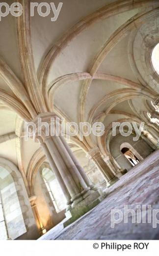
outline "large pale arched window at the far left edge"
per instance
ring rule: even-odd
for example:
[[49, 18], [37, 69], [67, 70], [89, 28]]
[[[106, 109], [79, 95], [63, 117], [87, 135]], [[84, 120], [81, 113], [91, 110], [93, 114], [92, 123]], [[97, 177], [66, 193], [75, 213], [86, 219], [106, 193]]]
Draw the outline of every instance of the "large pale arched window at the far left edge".
[[0, 166], [0, 239], [15, 239], [26, 231], [13, 177]]

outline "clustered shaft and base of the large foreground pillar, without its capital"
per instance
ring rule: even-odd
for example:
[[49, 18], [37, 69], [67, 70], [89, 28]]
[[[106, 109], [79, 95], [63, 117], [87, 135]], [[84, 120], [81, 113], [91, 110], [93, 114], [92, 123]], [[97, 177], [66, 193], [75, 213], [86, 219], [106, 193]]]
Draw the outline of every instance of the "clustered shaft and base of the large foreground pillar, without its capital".
[[[103, 197], [101, 192], [94, 191], [87, 186], [85, 180], [83, 179], [84, 171], [80, 167], [79, 172], [79, 169], [77, 168], [78, 164], [75, 164], [75, 159], [72, 159], [72, 156], [69, 154], [70, 151], [67, 151], [66, 144], [64, 146], [62, 141], [64, 141], [64, 138], [61, 140], [60, 136], [43, 136], [41, 145], [50, 165], [52, 168], [53, 166], [56, 168], [56, 172], [54, 172], [56, 177], [59, 179], [60, 174], [63, 183], [67, 188], [65, 194], [68, 191], [71, 196], [71, 209], [67, 209], [67, 220], [64, 223], [64, 226], [66, 226], [95, 207], [103, 199]], [[80, 173], [82, 173], [83, 177]], [[62, 189], [62, 182], [60, 182], [60, 186]]]

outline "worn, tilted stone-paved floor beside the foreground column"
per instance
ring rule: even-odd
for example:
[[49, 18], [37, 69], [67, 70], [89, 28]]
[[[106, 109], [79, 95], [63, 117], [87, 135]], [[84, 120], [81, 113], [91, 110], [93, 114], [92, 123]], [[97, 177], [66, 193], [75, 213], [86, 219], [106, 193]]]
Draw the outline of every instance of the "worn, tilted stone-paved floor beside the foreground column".
[[106, 189], [106, 194], [106, 198], [99, 205], [75, 223], [64, 229], [60, 223], [40, 239], [159, 239], [159, 224], [157, 228], [153, 228], [152, 223], [132, 224], [131, 215], [127, 224], [122, 221], [115, 224], [114, 228], [110, 225], [111, 209], [120, 209], [123, 212], [126, 204], [128, 209], [134, 210], [137, 205], [143, 204], [159, 209], [159, 150]]

